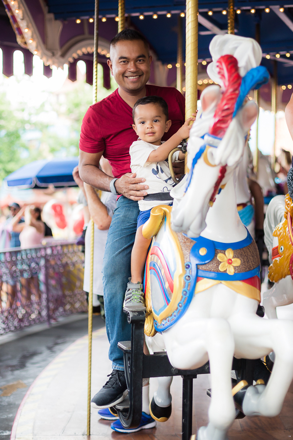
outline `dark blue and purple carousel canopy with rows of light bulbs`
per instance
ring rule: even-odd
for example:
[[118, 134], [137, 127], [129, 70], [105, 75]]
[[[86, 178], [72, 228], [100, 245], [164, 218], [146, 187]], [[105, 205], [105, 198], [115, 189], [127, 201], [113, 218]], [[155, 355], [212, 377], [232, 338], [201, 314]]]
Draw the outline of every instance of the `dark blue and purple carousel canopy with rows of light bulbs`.
[[[92, 82], [92, 51], [94, 32], [94, 0], [2, 0], [18, 43], [44, 62], [44, 73], [50, 66], [69, 65], [69, 78], [76, 79], [76, 63], [84, 60], [87, 82]], [[184, 15], [183, 0], [126, 0], [126, 23], [140, 30], [150, 43], [155, 62], [151, 82], [171, 85], [176, 77], [178, 17]], [[263, 64], [273, 73], [277, 62], [279, 84], [293, 82], [293, 5], [276, 0], [235, 0], [235, 33], [258, 38], [263, 51]], [[215, 34], [227, 32], [228, 2], [199, 1], [198, 58], [200, 73], [210, 61], [209, 43]], [[3, 11], [2, 11], [3, 12]], [[104, 67], [104, 86], [109, 88], [106, 66], [109, 42], [117, 32], [118, 0], [100, 0], [99, 63]], [[12, 74], [10, 33], [0, 26], [0, 47], [3, 50], [5, 74]], [[185, 17], [183, 21], [183, 57], [185, 57]], [[9, 23], [8, 23], [9, 24]], [[11, 31], [11, 29], [10, 29]], [[9, 35], [8, 35], [9, 34]], [[5, 39], [9, 40], [5, 45]], [[16, 42], [15, 42], [16, 43]], [[14, 43], [14, 44], [15, 44]], [[29, 73], [31, 55], [27, 55]], [[167, 66], [169, 68], [167, 68]]]

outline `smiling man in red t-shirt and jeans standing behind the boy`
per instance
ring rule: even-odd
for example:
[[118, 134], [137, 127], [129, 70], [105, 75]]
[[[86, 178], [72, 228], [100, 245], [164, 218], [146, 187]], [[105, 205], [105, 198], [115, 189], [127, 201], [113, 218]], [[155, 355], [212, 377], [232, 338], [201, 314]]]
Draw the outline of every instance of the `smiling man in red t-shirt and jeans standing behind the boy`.
[[[125, 29], [111, 41], [108, 66], [118, 89], [86, 112], [80, 139], [80, 176], [95, 188], [121, 195], [117, 200], [105, 248], [103, 278], [109, 359], [113, 371], [92, 399], [95, 408], [108, 408], [127, 394], [123, 353], [119, 341], [130, 340], [130, 326], [123, 313], [125, 290], [130, 277], [130, 256], [139, 214], [138, 200], [146, 196], [144, 178], [131, 174], [129, 147], [137, 140], [132, 129], [132, 108], [139, 98], [158, 95], [165, 99], [172, 124], [167, 140], [185, 121], [185, 101], [175, 88], [146, 85], [151, 56], [146, 39]], [[99, 169], [101, 156], [109, 160], [113, 177]], [[144, 409], [143, 409], [144, 411]]]

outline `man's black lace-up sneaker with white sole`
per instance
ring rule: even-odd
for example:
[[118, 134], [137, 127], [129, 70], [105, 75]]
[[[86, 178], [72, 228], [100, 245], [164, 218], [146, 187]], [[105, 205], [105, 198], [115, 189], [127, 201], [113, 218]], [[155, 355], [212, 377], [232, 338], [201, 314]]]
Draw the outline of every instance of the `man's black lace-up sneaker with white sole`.
[[128, 394], [124, 371], [113, 370], [108, 377], [110, 378], [104, 387], [91, 400], [93, 408], [109, 408], [117, 405]]

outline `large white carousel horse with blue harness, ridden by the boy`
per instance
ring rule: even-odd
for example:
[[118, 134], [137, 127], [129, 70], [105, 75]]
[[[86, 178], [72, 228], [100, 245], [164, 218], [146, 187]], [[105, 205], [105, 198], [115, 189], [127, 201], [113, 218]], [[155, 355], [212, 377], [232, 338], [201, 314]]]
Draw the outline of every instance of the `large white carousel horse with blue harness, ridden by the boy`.
[[[210, 52], [208, 74], [219, 86], [201, 95], [203, 111], [188, 141], [189, 172], [171, 191], [173, 208], [153, 208], [143, 229], [146, 238], [153, 237], [145, 333], [158, 337], [156, 345], [166, 349], [174, 368], [191, 370], [209, 360], [209, 423], [197, 439], [224, 440], [235, 404], [246, 416], [280, 413], [293, 378], [293, 322], [256, 315], [259, 256], [235, 196], [234, 171], [258, 112], [253, 101], [243, 102], [250, 89], [268, 81], [259, 66], [261, 48], [252, 39], [218, 35]], [[272, 351], [275, 364], [266, 386], [241, 381], [232, 390], [233, 356], [259, 359]], [[164, 384], [157, 391], [152, 414], [160, 403], [162, 410], [170, 406], [168, 383], [165, 395]]]

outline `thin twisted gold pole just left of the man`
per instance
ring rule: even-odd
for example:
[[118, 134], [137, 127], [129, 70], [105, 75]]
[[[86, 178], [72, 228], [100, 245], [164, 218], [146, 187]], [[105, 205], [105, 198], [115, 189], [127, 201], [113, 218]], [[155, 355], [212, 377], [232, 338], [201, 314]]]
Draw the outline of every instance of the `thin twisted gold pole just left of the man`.
[[[99, 0], [95, 0], [93, 104], [98, 100], [98, 44], [99, 44]], [[91, 357], [93, 332], [93, 272], [94, 272], [94, 222], [90, 220], [90, 274], [88, 292], [88, 379], [87, 379], [87, 424], [86, 435], [90, 436]]]

